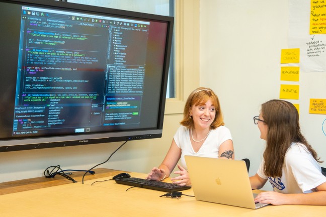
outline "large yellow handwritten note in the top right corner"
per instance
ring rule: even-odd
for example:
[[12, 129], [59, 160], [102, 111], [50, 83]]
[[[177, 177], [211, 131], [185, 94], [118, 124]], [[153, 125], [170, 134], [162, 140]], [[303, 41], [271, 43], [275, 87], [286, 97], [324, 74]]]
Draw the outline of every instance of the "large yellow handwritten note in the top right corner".
[[324, 0], [310, 0], [310, 35], [326, 33], [326, 8]]

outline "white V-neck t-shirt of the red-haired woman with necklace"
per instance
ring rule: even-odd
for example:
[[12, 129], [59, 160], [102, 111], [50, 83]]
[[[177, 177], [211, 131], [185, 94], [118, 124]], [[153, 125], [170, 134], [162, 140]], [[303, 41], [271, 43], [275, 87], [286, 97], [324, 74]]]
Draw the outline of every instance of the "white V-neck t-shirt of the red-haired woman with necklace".
[[181, 148], [180, 164], [183, 168], [187, 169], [185, 155], [218, 158], [220, 145], [226, 140], [232, 140], [232, 137], [229, 129], [220, 126], [209, 133], [198, 152], [195, 152], [191, 145], [189, 129], [186, 127], [179, 127], [173, 139], [177, 146]]

